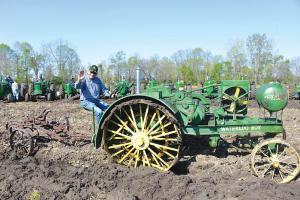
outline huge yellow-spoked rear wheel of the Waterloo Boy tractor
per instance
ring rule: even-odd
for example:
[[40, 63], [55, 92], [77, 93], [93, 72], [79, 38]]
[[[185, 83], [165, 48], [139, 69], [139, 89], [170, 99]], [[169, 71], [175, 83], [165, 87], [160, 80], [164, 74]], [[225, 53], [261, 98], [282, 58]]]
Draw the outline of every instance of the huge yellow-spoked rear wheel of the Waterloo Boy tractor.
[[181, 134], [164, 107], [147, 100], [116, 106], [104, 125], [104, 148], [118, 163], [169, 170], [178, 160]]

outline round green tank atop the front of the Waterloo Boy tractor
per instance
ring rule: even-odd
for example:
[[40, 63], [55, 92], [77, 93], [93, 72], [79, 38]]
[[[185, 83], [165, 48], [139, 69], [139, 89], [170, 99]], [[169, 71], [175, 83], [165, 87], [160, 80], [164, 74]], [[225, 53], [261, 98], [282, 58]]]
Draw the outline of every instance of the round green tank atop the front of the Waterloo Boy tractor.
[[288, 92], [278, 82], [263, 84], [256, 91], [256, 100], [269, 112], [283, 110], [288, 103]]

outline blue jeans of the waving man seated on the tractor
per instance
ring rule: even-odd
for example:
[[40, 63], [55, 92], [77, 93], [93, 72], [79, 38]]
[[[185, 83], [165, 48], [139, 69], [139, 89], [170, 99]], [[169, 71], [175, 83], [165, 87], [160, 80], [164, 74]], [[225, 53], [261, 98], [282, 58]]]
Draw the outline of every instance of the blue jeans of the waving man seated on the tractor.
[[99, 124], [100, 119], [103, 115], [103, 111], [106, 110], [109, 105], [103, 101], [101, 101], [100, 99], [93, 99], [93, 100], [80, 100], [80, 107], [85, 108], [87, 110], [93, 111], [94, 108], [94, 112], [95, 112], [95, 117], [96, 117], [96, 121], [97, 124]]

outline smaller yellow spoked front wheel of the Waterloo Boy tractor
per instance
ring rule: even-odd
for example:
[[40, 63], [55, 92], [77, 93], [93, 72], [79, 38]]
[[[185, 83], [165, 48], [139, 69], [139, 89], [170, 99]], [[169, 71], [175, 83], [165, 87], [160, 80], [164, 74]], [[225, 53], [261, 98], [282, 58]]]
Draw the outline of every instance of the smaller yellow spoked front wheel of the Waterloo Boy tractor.
[[300, 172], [300, 157], [290, 144], [281, 139], [265, 140], [251, 153], [251, 170], [258, 177], [288, 183]]

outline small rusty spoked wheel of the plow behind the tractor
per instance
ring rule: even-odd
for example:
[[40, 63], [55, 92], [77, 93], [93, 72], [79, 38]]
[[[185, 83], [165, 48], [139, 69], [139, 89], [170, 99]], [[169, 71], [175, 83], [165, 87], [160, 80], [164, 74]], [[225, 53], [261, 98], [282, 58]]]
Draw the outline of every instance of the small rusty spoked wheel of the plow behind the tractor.
[[24, 158], [33, 153], [33, 140], [27, 130], [17, 129], [11, 132], [9, 143], [17, 158]]

